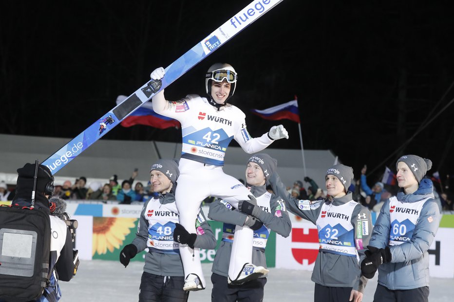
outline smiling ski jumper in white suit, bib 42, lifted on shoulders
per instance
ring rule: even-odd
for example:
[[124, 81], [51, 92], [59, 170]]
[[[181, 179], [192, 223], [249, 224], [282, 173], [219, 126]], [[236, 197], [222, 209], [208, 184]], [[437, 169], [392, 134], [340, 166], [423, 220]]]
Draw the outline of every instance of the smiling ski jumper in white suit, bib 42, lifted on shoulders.
[[[165, 71], [158, 68], [151, 73], [153, 80], [163, 78]], [[224, 156], [229, 142], [234, 139], [247, 153], [265, 149], [274, 140], [288, 138], [282, 125], [273, 126], [259, 138], [251, 138], [246, 129], [245, 114], [226, 101], [236, 88], [237, 74], [228, 64], [215, 64], [206, 75], [207, 97], [188, 95], [170, 102], [164, 91], [153, 97], [156, 113], [178, 120], [182, 129], [182, 153], [179, 164], [180, 178], [175, 192], [176, 205], [180, 212], [180, 223], [194, 232], [193, 221], [206, 197], [216, 196], [237, 207], [240, 200], [248, 200], [249, 191], [238, 181], [224, 173]], [[251, 263], [253, 232], [248, 227], [237, 226], [232, 247], [229, 278], [241, 278], [246, 264]], [[194, 278], [200, 278], [205, 287], [198, 250], [180, 246], [180, 254], [188, 284], [193, 290]], [[191, 275], [191, 276], [189, 276]], [[191, 285], [192, 284], [192, 285]], [[200, 288], [199, 288], [200, 289]]]

